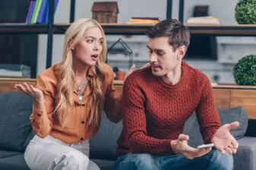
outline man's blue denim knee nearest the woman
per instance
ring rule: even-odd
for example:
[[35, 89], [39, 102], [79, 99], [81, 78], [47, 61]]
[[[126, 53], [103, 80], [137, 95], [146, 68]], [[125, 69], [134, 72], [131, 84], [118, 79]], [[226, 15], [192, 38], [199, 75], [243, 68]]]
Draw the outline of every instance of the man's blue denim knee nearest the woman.
[[159, 165], [157, 159], [150, 154], [140, 153], [140, 154], [126, 154], [120, 156], [116, 160], [115, 170], [157, 170]]

